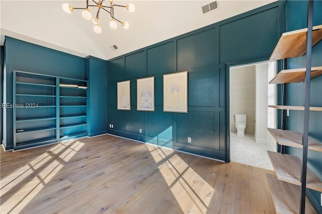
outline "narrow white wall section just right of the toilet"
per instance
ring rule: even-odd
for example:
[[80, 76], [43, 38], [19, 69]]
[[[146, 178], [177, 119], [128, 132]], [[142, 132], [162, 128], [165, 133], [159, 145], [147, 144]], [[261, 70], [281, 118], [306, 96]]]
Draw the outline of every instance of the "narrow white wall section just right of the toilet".
[[268, 144], [268, 64], [256, 65], [256, 125], [255, 138], [260, 144]]

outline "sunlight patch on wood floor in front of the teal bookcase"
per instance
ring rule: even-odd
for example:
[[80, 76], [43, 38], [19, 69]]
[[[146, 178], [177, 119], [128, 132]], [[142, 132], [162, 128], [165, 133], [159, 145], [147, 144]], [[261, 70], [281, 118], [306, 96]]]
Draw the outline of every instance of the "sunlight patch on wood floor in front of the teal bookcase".
[[[70, 145], [70, 146], [69, 146]], [[69, 147], [68, 147], [69, 146]], [[1, 204], [1, 213], [19, 213], [23, 208], [39, 193], [39, 191], [47, 184], [63, 167], [63, 163], [69, 161], [79, 149], [84, 146], [80, 141], [69, 140], [59, 143], [31, 160], [25, 166], [17, 169], [0, 181], [1, 196], [8, 191], [15, 190], [14, 187], [25, 179], [26, 184], [16, 190], [16, 192], [4, 203]], [[65, 151], [63, 151], [65, 149]], [[60, 152], [63, 153], [56, 157]], [[52, 153], [52, 154], [50, 154]], [[55, 158], [55, 159], [54, 159]], [[47, 164], [46, 167], [44, 167]], [[40, 172], [36, 171], [44, 167]], [[34, 173], [34, 175], [32, 175]], [[32, 175], [32, 179], [28, 178]]]

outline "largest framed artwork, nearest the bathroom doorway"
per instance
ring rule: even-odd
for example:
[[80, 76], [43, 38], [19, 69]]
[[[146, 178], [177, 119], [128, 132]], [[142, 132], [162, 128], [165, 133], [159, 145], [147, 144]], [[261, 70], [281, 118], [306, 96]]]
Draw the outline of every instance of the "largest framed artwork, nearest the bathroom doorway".
[[188, 71], [163, 75], [163, 111], [188, 112]]

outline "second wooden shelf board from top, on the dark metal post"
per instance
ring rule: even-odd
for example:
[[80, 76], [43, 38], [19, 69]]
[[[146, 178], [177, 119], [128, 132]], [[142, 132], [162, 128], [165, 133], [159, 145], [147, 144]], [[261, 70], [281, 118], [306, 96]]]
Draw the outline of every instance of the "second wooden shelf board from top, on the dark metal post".
[[[305, 80], [306, 68], [288, 69], [280, 71], [269, 84], [300, 83]], [[311, 79], [322, 75], [322, 66], [311, 68]]]

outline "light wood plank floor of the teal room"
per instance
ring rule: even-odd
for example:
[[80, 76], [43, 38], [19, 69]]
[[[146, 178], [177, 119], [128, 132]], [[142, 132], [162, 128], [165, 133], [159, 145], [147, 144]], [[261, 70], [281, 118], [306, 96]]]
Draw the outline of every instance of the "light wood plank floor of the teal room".
[[110, 135], [1, 150], [1, 213], [275, 213], [253, 166]]

